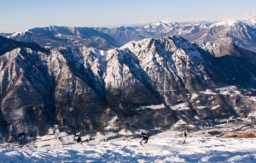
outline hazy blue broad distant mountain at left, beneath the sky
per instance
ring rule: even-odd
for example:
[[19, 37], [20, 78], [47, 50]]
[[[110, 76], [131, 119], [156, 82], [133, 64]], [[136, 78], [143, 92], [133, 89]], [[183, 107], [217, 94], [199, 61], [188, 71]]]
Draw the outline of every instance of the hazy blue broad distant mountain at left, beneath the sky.
[[87, 27], [51, 25], [15, 32], [10, 34], [8, 38], [21, 42], [35, 42], [49, 49], [60, 46], [68, 48], [87, 46], [108, 49], [119, 46], [119, 42], [115, 41], [113, 37]]

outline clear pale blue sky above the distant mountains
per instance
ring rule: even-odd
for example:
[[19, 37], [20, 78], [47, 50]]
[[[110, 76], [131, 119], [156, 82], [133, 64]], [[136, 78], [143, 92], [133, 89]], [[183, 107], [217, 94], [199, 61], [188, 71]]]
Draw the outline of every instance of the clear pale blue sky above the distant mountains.
[[0, 0], [0, 32], [49, 25], [118, 26], [159, 20], [222, 20], [256, 0]]

